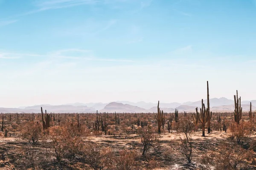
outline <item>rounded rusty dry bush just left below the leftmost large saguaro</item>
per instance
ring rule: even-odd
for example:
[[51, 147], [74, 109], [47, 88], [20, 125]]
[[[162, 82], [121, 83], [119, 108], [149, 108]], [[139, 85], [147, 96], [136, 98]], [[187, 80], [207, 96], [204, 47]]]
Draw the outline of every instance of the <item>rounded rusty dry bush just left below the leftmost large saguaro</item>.
[[22, 136], [25, 139], [30, 141], [32, 140], [33, 144], [36, 144], [43, 136], [42, 126], [37, 122], [28, 122], [23, 126], [21, 130]]

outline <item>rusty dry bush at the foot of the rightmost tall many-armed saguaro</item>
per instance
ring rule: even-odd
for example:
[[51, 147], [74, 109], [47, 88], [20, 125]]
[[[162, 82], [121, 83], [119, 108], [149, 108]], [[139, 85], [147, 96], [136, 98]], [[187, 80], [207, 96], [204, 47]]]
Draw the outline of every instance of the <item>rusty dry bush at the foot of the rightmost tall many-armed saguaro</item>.
[[248, 139], [248, 135], [250, 133], [249, 126], [247, 122], [241, 121], [238, 125], [237, 123], [233, 123], [230, 125], [231, 139], [236, 139], [236, 142], [240, 144], [242, 141], [246, 141]]

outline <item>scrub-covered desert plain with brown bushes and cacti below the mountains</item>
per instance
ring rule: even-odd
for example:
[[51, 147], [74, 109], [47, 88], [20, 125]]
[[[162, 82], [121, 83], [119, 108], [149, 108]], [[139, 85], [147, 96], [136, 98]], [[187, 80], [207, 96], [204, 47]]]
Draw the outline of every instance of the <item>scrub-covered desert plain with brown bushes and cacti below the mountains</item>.
[[251, 106], [249, 114], [241, 112], [237, 97], [233, 113], [209, 112], [209, 101], [206, 108], [203, 100], [196, 113], [165, 113], [159, 103], [156, 114], [43, 113], [42, 108], [41, 113], [5, 113], [2, 167], [253, 169], [256, 121]]

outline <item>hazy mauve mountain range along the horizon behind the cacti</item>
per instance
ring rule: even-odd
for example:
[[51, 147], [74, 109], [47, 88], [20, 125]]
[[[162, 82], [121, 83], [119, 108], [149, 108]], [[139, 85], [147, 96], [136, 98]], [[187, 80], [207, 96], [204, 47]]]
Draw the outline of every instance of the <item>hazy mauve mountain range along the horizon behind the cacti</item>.
[[[249, 111], [250, 102], [252, 110], [256, 110], [256, 100], [242, 101], [243, 111]], [[207, 105], [207, 100], [204, 100]], [[110, 103], [72, 103], [65, 105], [35, 105], [19, 108], [0, 108], [0, 113], [40, 113], [41, 107], [47, 112], [52, 113], [95, 113], [99, 112], [117, 112], [117, 113], [155, 113], [157, 112], [157, 103], [150, 102], [128, 102], [116, 101]], [[195, 112], [195, 108], [201, 108], [201, 100], [197, 102], [185, 103], [160, 103], [160, 109], [164, 112], [174, 112], [178, 109], [180, 112]], [[221, 97], [210, 99], [210, 110], [213, 112], [230, 112], [234, 110], [234, 101]]]

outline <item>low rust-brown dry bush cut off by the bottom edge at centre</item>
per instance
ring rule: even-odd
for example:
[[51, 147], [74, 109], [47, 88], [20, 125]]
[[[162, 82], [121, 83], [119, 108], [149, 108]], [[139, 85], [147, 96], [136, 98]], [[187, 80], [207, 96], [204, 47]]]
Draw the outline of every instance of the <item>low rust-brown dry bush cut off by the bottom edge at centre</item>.
[[140, 156], [136, 150], [121, 150], [119, 156], [116, 156], [116, 170], [140, 170]]

